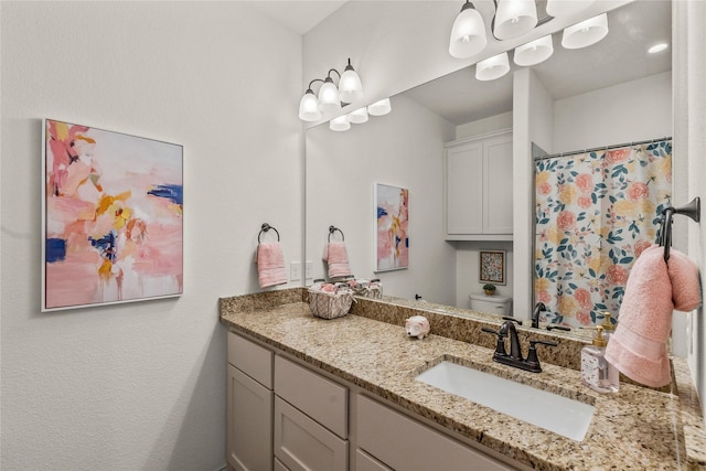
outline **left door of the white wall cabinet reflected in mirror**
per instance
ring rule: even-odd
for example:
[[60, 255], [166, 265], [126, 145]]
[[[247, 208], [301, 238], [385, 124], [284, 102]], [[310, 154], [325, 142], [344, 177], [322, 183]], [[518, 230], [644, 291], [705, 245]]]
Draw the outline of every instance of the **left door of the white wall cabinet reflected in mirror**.
[[482, 141], [469, 141], [447, 149], [446, 189], [447, 234], [482, 234]]

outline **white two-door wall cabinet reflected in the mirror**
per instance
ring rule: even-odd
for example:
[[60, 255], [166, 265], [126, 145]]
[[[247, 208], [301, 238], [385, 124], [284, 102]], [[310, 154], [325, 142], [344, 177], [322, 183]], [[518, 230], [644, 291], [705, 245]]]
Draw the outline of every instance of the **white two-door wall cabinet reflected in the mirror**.
[[445, 148], [446, 238], [512, 240], [512, 131]]

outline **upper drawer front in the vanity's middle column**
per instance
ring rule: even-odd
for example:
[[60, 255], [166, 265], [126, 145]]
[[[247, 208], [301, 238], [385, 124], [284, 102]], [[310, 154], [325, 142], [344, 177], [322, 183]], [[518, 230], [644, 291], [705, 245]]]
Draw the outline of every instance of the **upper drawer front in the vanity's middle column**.
[[347, 389], [281, 356], [275, 357], [275, 393], [289, 404], [347, 438]]

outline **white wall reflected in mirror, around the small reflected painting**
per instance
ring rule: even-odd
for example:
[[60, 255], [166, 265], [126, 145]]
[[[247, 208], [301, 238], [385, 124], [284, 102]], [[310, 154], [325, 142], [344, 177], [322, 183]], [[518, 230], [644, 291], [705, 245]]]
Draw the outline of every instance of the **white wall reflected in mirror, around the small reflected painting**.
[[[385, 295], [453, 304], [453, 247], [443, 240], [441, 208], [443, 142], [454, 128], [404, 95], [393, 97], [392, 107], [345, 132], [328, 125], [307, 130], [307, 259], [313, 278], [324, 278], [321, 254], [334, 225], [345, 235], [356, 277], [379, 278]], [[408, 269], [374, 272], [375, 183], [409, 190]]]

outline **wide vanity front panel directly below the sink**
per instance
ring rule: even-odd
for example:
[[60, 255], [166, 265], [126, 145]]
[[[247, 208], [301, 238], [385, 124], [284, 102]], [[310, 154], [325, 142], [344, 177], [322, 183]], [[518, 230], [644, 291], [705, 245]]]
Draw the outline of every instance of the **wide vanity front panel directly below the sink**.
[[357, 399], [357, 445], [391, 468], [511, 469], [365, 396]]

